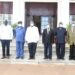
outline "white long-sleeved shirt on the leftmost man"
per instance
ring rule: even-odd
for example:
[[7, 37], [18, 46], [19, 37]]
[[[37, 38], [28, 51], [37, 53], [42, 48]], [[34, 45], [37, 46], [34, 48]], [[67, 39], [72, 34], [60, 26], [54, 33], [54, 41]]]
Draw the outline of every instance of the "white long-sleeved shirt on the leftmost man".
[[13, 39], [13, 29], [10, 25], [0, 26], [0, 39], [1, 40], [12, 40]]

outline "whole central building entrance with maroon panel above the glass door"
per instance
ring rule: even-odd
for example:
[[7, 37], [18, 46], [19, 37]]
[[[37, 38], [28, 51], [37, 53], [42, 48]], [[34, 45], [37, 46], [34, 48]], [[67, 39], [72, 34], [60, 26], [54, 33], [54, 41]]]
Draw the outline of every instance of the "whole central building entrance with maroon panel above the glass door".
[[57, 3], [26, 3], [26, 25], [33, 20], [42, 34], [47, 24], [55, 29], [57, 27]]

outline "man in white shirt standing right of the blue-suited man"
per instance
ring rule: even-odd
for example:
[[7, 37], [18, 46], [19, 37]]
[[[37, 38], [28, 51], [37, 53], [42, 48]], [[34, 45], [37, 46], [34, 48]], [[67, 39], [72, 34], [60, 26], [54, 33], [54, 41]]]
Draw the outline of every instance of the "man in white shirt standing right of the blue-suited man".
[[28, 43], [29, 59], [35, 59], [36, 47], [39, 41], [39, 31], [38, 28], [34, 26], [33, 21], [30, 22], [30, 26], [27, 28], [25, 40]]

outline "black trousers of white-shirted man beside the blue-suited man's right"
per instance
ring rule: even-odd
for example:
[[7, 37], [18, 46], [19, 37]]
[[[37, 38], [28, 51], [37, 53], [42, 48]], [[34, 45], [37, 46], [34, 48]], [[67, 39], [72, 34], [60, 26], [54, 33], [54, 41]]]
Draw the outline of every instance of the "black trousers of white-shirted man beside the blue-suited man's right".
[[37, 43], [29, 43], [28, 44], [30, 59], [35, 58], [36, 47], [37, 47]]

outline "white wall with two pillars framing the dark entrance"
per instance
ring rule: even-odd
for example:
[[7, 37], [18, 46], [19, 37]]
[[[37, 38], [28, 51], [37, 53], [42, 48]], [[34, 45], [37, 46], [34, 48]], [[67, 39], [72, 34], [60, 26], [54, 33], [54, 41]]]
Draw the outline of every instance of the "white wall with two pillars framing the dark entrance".
[[[0, 1], [13, 1], [13, 22], [16, 23], [19, 20], [25, 21], [25, 2], [57, 2], [57, 24], [61, 21], [66, 27], [69, 23], [69, 1], [75, 2], [75, 0], [0, 0]], [[57, 25], [59, 26], [59, 25]]]

